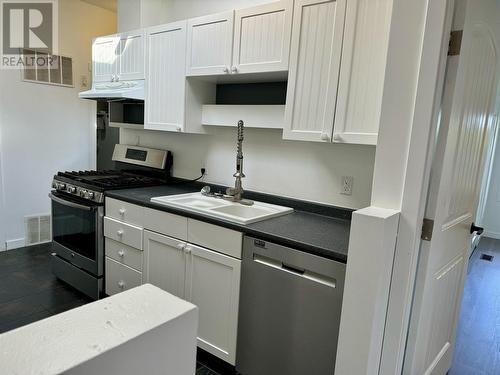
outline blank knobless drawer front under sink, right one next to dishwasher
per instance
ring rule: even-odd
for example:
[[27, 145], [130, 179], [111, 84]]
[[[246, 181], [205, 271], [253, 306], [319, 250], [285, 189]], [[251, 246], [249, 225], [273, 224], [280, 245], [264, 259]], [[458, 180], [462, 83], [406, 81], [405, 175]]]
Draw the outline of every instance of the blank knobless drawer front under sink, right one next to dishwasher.
[[235, 230], [188, 219], [188, 242], [241, 259], [243, 235]]

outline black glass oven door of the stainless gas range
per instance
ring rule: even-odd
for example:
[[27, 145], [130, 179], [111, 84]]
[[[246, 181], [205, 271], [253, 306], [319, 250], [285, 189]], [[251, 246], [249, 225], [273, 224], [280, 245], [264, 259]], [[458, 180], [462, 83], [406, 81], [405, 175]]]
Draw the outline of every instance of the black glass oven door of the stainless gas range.
[[104, 208], [53, 191], [53, 250], [73, 265], [100, 277], [103, 274]]

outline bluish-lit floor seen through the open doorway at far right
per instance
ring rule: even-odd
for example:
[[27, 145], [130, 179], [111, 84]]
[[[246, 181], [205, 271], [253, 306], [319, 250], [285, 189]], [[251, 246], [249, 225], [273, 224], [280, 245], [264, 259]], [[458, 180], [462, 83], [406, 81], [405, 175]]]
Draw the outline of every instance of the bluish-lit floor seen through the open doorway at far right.
[[[481, 255], [492, 255], [491, 262]], [[469, 264], [449, 375], [500, 374], [500, 241], [482, 238]]]

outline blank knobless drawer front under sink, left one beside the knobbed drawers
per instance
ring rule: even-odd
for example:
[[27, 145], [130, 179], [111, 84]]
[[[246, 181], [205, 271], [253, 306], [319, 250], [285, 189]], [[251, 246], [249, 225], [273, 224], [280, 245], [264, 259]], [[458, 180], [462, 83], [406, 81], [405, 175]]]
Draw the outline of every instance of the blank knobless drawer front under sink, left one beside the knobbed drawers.
[[187, 239], [187, 218], [168, 212], [145, 208], [144, 228], [180, 240]]

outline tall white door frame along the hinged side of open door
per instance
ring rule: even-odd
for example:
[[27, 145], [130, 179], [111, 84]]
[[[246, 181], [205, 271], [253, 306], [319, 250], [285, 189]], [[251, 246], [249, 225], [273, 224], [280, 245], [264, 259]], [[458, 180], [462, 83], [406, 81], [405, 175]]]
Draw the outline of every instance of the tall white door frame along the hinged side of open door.
[[[437, 58], [436, 51], [443, 48], [443, 41], [448, 40], [451, 20], [458, 4], [460, 0], [429, 1], [426, 6], [415, 107], [403, 173], [402, 219], [394, 254], [380, 375], [401, 374], [403, 370], [447, 60], [446, 55]], [[374, 181], [376, 179], [375, 175]]]

